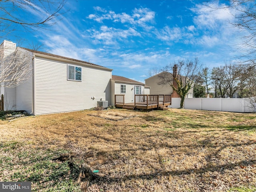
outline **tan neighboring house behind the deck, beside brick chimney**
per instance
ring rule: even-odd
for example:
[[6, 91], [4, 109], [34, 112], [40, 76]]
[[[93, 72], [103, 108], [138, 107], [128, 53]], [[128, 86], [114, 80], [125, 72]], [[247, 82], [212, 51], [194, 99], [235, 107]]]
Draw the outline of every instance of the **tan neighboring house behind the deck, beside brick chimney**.
[[[156, 74], [150, 78], [145, 79], [145, 84], [147, 86], [150, 86], [150, 94], [173, 94], [173, 89], [169, 84], [162, 85], [160, 84], [161, 79], [159, 75], [164, 74], [167, 76], [169, 79], [172, 79], [172, 74], [169, 72], [161, 72], [159, 74]], [[172, 95], [172, 98], [174, 97], [179, 97], [179, 96], [174, 96]], [[186, 98], [193, 98], [193, 88], [190, 89], [188, 92]]]

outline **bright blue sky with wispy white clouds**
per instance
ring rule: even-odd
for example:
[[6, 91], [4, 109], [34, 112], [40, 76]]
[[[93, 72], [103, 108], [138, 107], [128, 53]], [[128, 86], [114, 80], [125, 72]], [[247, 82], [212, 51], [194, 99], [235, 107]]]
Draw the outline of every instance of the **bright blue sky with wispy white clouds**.
[[[68, 11], [48, 30], [20, 28], [14, 32], [19, 38], [5, 39], [27, 48], [42, 44], [41, 51], [90, 60], [144, 82], [149, 70], [178, 59], [198, 57], [209, 68], [233, 60], [241, 35], [230, 24], [234, 13], [203, 4], [223, 6], [199, 0], [67, 0], [63, 11]], [[19, 14], [40, 17], [32, 10]]]

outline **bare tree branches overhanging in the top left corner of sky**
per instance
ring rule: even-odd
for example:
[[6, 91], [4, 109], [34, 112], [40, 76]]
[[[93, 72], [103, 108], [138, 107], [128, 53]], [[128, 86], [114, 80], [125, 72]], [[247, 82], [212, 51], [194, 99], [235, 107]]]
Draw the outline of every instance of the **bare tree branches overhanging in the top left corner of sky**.
[[56, 24], [64, 4], [65, 0], [0, 0], [1, 36], [11, 34], [17, 26], [34, 31]]

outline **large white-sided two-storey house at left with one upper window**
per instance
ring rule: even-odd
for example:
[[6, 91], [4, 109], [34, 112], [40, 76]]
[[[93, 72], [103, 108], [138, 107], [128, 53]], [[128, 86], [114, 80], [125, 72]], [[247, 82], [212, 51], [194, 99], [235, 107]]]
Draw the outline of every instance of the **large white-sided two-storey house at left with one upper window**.
[[[4, 40], [0, 46], [5, 55], [15, 49], [26, 53], [30, 77], [14, 88], [1, 86], [5, 110], [26, 110], [33, 115], [70, 112], [97, 106], [97, 101], [110, 102], [112, 69], [89, 62], [45, 52], [16, 48]], [[128, 88], [127, 88], [128, 90]]]

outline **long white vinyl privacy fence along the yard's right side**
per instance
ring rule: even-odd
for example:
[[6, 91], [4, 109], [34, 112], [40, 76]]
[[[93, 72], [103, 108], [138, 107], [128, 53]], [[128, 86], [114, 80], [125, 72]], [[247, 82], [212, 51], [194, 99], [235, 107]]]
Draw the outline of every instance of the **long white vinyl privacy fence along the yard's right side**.
[[[209, 111], [256, 112], [256, 103], [251, 101], [250, 98], [185, 98], [184, 108]], [[179, 108], [180, 98], [172, 98], [172, 105], [169, 107]]]

